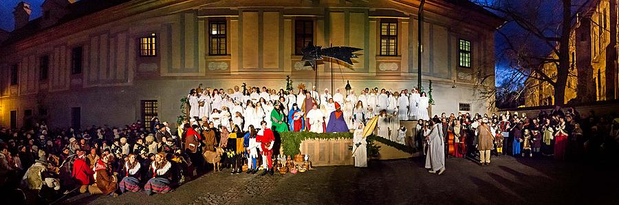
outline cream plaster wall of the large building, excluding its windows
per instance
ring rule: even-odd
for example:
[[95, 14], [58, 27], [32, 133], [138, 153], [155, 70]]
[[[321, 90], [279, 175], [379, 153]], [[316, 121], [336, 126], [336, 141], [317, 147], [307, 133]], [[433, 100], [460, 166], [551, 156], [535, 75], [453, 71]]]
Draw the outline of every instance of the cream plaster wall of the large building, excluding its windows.
[[[294, 87], [298, 83], [314, 85], [314, 72], [299, 72], [294, 67], [300, 56], [294, 55], [297, 17], [285, 14], [290, 8], [241, 8], [221, 16], [200, 14], [209, 9], [214, 8], [177, 6], [143, 12], [32, 47], [18, 47], [8, 56], [0, 56], [0, 71], [6, 74], [3, 76], [9, 76], [13, 63], [20, 66], [18, 86], [9, 86], [8, 77], [0, 81], [0, 125], [8, 125], [10, 110], [19, 110], [21, 116], [24, 109], [31, 107], [36, 114], [34, 104], [29, 104], [34, 94], [45, 96], [50, 122], [67, 126], [71, 107], [82, 107], [83, 125], [125, 123], [138, 119], [139, 101], [149, 99], [159, 100], [160, 116], [174, 121], [178, 100], [199, 83], [208, 87], [248, 83], [279, 88], [285, 87], [283, 79], [290, 75]], [[346, 80], [350, 80], [355, 89], [400, 90], [417, 85], [417, 20], [413, 14], [407, 15], [397, 18], [399, 45], [398, 56], [394, 57], [378, 56], [378, 27], [383, 17], [370, 17], [368, 8], [333, 8], [301, 16], [314, 20], [315, 45], [332, 43], [364, 49], [356, 53], [359, 58], [354, 59], [352, 69], [336, 65], [335, 87], [343, 90]], [[208, 56], [211, 18], [226, 19], [227, 56]], [[492, 36], [492, 30], [477, 32]], [[158, 39], [158, 56], [149, 58], [155, 59], [152, 62], [138, 56], [136, 47], [139, 37], [151, 33]], [[434, 82], [435, 112], [457, 112], [453, 110], [457, 102], [469, 102], [479, 112], [487, 107], [485, 102], [473, 101], [473, 84], [457, 78], [461, 70], [457, 67], [457, 39], [466, 36], [470, 35], [457, 33], [448, 23], [431, 18], [424, 22], [423, 84], [427, 89], [427, 80]], [[493, 59], [493, 52], [482, 52], [492, 51], [492, 45], [479, 39], [468, 40], [474, 45], [474, 61]], [[72, 75], [71, 49], [78, 45], [83, 46], [83, 73]], [[50, 54], [47, 82], [39, 81], [38, 76], [39, 56], [43, 54]], [[493, 72], [493, 67], [488, 66], [488, 72]], [[328, 63], [318, 65], [318, 70], [318, 86], [330, 88]], [[451, 88], [453, 80], [457, 80], [456, 89]]]

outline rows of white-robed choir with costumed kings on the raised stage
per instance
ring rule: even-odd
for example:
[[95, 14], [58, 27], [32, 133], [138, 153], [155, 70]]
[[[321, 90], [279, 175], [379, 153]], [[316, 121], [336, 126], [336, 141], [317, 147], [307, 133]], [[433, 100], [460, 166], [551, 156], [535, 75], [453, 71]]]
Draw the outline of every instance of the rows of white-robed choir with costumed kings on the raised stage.
[[429, 120], [429, 98], [423, 91], [375, 87], [360, 92], [342, 93], [336, 88], [334, 94], [329, 89], [319, 94], [316, 87], [309, 90], [303, 85], [298, 91], [267, 87], [241, 90], [238, 86], [224, 91], [199, 86], [187, 96], [188, 117], [196, 124], [213, 122], [215, 127], [223, 125], [228, 130], [239, 125], [241, 131], [248, 131], [250, 125], [259, 127], [259, 122], [265, 120], [267, 127], [274, 125], [278, 131], [323, 133], [349, 131], [379, 116], [377, 135], [401, 144], [406, 128], [400, 126], [400, 120]]

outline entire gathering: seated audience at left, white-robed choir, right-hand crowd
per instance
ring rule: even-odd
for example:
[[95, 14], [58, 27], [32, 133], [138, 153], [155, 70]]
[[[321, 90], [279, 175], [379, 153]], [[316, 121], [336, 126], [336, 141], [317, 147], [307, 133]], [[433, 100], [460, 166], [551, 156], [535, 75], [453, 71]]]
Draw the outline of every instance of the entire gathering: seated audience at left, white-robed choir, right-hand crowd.
[[[468, 113], [428, 116], [428, 97], [386, 89], [347, 94], [302, 85], [294, 91], [251, 87], [243, 90], [199, 86], [187, 96], [186, 119], [172, 129], [153, 118], [124, 127], [59, 129], [45, 122], [23, 129], [0, 129], [0, 184], [3, 193], [21, 188], [36, 199], [70, 193], [119, 195], [167, 193], [210, 170], [219, 158], [230, 173], [273, 175], [283, 131], [348, 132], [354, 129], [356, 166], [367, 166], [362, 137], [378, 116], [376, 136], [415, 147], [426, 155], [430, 173], [445, 171], [444, 158], [479, 159], [490, 155], [554, 156], [617, 154], [619, 119], [571, 108], [539, 116]], [[413, 137], [400, 120], [418, 120]], [[504, 150], [503, 150], [504, 149]], [[362, 151], [359, 151], [362, 150]], [[479, 155], [479, 156], [478, 156]], [[278, 157], [276, 157], [278, 156]], [[19, 195], [13, 195], [19, 196]]]

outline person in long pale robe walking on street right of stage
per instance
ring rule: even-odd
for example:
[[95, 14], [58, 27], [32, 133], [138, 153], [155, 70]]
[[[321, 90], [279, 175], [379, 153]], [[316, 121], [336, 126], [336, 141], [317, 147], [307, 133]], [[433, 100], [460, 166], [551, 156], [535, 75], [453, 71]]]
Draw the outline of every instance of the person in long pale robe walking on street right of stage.
[[426, 155], [426, 169], [439, 171], [445, 168], [445, 144], [443, 143], [443, 131], [440, 123], [433, 125], [430, 131], [426, 132], [429, 137], [428, 154]]

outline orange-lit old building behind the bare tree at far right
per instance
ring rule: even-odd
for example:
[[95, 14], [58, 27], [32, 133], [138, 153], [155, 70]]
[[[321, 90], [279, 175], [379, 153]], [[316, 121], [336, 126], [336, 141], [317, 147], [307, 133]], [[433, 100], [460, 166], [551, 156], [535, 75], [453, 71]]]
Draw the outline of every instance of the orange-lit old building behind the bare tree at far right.
[[[615, 59], [613, 75], [607, 75], [607, 50], [610, 43], [610, 9], [608, 1], [590, 1], [589, 6], [578, 12], [578, 21], [572, 28], [569, 40], [569, 77], [565, 87], [565, 102], [587, 102], [619, 98], [619, 71]], [[614, 48], [616, 49], [616, 48]], [[556, 56], [552, 55], [552, 58]], [[548, 63], [543, 68], [547, 76], [555, 78], [556, 68]], [[527, 80], [525, 106], [554, 105], [554, 88], [541, 80]], [[613, 88], [614, 95], [607, 95]]]

